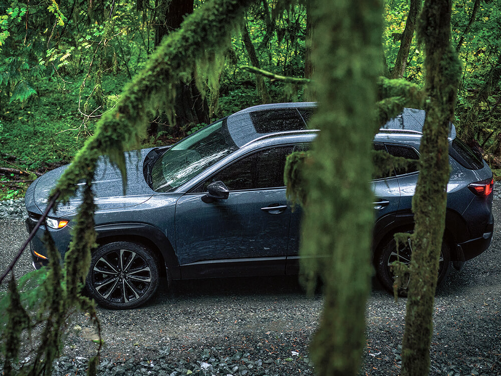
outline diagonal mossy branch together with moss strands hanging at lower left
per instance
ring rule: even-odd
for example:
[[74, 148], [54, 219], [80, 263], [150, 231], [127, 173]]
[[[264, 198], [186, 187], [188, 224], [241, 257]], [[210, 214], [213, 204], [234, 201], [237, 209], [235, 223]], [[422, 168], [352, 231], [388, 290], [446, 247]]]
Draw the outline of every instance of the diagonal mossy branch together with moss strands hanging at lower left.
[[[208, 67], [216, 56], [224, 54], [229, 33], [242, 20], [242, 10], [250, 3], [250, 0], [205, 2], [186, 18], [179, 31], [164, 38], [146, 68], [126, 86], [116, 107], [101, 117], [94, 136], [86, 141], [74, 162], [59, 179], [49, 201], [59, 197], [60, 202], [67, 202], [75, 194], [76, 183], [83, 181], [83, 202], [73, 220], [74, 237], [65, 255], [64, 269], [61, 268], [60, 254], [47, 233], [49, 268], [45, 274], [34, 273], [39, 280], [43, 279], [42, 285], [38, 287], [42, 291], [43, 300], [36, 320], [44, 323], [44, 327], [34, 361], [25, 365], [21, 371], [17, 370], [17, 375], [40, 376], [51, 373], [53, 360], [60, 355], [61, 336], [72, 312], [88, 312], [100, 333], [94, 302], [80, 293], [88, 272], [91, 250], [96, 246], [92, 180], [97, 160], [100, 155], [106, 155], [118, 166], [125, 189], [127, 175], [124, 150], [139, 145], [146, 132], [148, 116], [158, 106], [167, 108], [170, 118], [173, 118], [173, 88], [177, 82], [193, 73], [195, 66]], [[209, 81], [215, 82], [217, 79], [212, 77]], [[0, 300], [0, 306], [5, 301], [5, 298]], [[11, 370], [12, 374], [12, 363], [19, 353], [21, 332], [30, 322], [26, 318], [26, 311], [14, 282], [10, 288], [10, 302], [11, 308], [7, 310], [8, 325], [4, 332], [4, 337], [7, 338], [5, 351], [8, 355], [4, 369]], [[89, 374], [96, 373], [98, 356], [99, 348], [98, 355], [89, 362]]]

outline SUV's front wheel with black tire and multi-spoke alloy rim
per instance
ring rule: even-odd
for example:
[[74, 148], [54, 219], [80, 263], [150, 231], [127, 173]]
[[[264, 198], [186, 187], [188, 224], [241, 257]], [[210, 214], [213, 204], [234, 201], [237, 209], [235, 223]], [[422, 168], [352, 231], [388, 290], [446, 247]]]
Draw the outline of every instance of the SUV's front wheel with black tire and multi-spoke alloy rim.
[[155, 254], [138, 243], [114, 242], [92, 255], [86, 289], [106, 308], [129, 309], [146, 303], [159, 282]]

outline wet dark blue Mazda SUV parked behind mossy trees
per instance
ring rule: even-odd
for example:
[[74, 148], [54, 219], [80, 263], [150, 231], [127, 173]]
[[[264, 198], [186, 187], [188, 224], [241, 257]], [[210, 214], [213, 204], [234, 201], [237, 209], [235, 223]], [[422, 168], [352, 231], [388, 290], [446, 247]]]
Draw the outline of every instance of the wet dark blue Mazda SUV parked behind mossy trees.
[[[119, 171], [101, 158], [95, 172], [95, 214], [99, 247], [86, 281], [102, 306], [133, 308], [167, 281], [288, 275], [299, 271], [301, 209], [286, 200], [286, 156], [308, 150], [317, 130], [306, 124], [315, 103], [250, 107], [218, 120], [171, 147], [127, 156], [126, 195]], [[374, 137], [374, 148], [419, 158], [424, 112], [405, 109]], [[493, 230], [492, 172], [477, 152], [461, 142], [451, 125], [451, 174], [447, 186], [446, 230], [439, 281], [450, 264], [483, 252]], [[47, 205], [49, 192], [66, 166], [38, 178], [26, 193], [31, 230]], [[392, 288], [397, 258], [395, 232], [412, 231], [411, 199], [417, 164], [375, 176], [373, 260], [377, 275]], [[64, 257], [81, 192], [51, 212], [31, 241], [35, 268], [48, 263], [42, 242], [49, 231]], [[410, 249], [399, 250], [408, 262]]]

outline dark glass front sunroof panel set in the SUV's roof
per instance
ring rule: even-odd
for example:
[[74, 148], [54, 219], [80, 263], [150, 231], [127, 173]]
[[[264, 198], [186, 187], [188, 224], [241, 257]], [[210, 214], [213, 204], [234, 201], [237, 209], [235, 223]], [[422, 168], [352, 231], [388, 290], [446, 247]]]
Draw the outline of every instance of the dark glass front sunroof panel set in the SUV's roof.
[[254, 111], [249, 116], [258, 133], [306, 129], [305, 122], [295, 108]]

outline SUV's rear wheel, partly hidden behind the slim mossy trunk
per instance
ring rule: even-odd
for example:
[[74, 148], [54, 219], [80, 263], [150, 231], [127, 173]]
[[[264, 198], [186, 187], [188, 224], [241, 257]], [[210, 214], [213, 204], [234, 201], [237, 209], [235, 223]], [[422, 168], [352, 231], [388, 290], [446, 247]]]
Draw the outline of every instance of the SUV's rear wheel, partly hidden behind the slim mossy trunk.
[[[379, 247], [379, 252], [376, 258], [376, 274], [378, 276], [378, 279], [383, 287], [391, 294], [393, 294], [393, 284], [395, 276], [391, 271], [390, 264], [394, 261], [397, 261], [396, 248], [396, 243], [392, 236], [389, 240], [384, 242], [381, 247]], [[410, 263], [411, 253], [412, 250], [409, 244], [400, 245], [398, 255], [401, 262], [408, 265]], [[445, 276], [449, 271], [449, 268], [450, 251], [447, 243], [445, 242], [445, 240], [443, 240], [438, 265], [437, 287], [440, 286], [440, 284], [443, 282]], [[407, 280], [407, 283], [404, 282], [404, 285], [398, 289], [399, 296], [407, 296], [408, 283], [409, 282]]]

